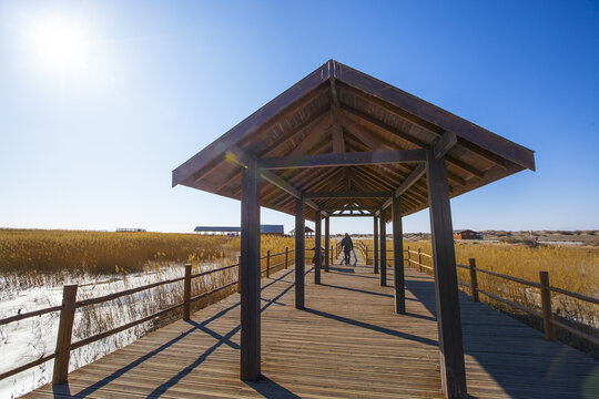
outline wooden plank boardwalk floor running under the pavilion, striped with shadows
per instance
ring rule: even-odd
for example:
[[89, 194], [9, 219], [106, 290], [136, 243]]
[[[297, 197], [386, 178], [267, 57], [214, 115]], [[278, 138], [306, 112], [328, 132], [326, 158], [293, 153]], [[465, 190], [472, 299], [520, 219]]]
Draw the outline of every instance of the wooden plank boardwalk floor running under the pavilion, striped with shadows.
[[[406, 315], [366, 266], [306, 277], [294, 308], [293, 269], [263, 279], [262, 374], [238, 379], [238, 295], [202, 309], [28, 398], [443, 398], [430, 276], [406, 268]], [[389, 282], [393, 279], [389, 278]], [[589, 356], [460, 294], [474, 398], [596, 398]]]

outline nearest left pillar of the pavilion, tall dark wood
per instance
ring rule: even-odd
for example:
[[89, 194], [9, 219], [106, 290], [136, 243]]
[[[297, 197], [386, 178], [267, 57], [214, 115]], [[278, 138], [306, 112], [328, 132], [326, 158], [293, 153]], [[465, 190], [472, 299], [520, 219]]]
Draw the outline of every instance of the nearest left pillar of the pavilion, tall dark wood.
[[260, 378], [260, 172], [256, 158], [242, 170], [241, 379]]

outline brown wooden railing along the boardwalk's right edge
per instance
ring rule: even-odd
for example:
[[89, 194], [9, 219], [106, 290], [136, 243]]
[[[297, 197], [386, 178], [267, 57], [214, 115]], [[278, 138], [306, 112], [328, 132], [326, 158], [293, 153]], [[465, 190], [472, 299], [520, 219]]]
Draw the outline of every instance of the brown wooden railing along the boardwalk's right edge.
[[[368, 264], [368, 254], [373, 253], [373, 249], [369, 249], [363, 242], [358, 242], [357, 246], [362, 250], [364, 257], [366, 258], [366, 263]], [[393, 253], [393, 249], [387, 250], [387, 253], [389, 253], [389, 252]], [[433, 274], [434, 273], [434, 267], [429, 266], [429, 265], [425, 265], [423, 263], [423, 258], [433, 259], [433, 255], [423, 253], [420, 250], [420, 248], [418, 248], [418, 250], [414, 250], [414, 249], [410, 248], [410, 246], [408, 246], [407, 249], [404, 249], [404, 262], [406, 263], [407, 266], [417, 268], [420, 273]], [[388, 259], [388, 257], [387, 257], [387, 259]], [[428, 262], [432, 263], [433, 260], [428, 260]], [[491, 298], [494, 300], [497, 300], [497, 301], [500, 301], [500, 303], [506, 304], [508, 306], [511, 306], [511, 307], [514, 307], [514, 308], [516, 308], [518, 310], [521, 310], [521, 311], [524, 311], [524, 313], [526, 313], [528, 315], [542, 318], [545, 338], [547, 340], [555, 340], [556, 339], [555, 327], [559, 327], [559, 328], [561, 328], [561, 329], [564, 329], [564, 330], [566, 330], [566, 331], [579, 337], [579, 338], [582, 338], [582, 339], [591, 342], [592, 345], [599, 346], [599, 339], [598, 338], [596, 338], [596, 337], [593, 337], [593, 336], [591, 336], [591, 335], [589, 335], [589, 334], [587, 334], [585, 331], [581, 331], [580, 329], [568, 326], [567, 324], [560, 321], [556, 317], [557, 315], [555, 315], [552, 309], [551, 309], [551, 293], [558, 293], [558, 294], [561, 294], [561, 295], [566, 295], [566, 296], [568, 296], [570, 298], [575, 298], [577, 300], [582, 300], [582, 301], [586, 301], [586, 303], [589, 303], [589, 304], [595, 304], [595, 305], [599, 305], [599, 299], [598, 298], [589, 297], [589, 296], [578, 294], [578, 293], [572, 293], [572, 291], [569, 291], [569, 290], [564, 289], [564, 288], [552, 287], [549, 284], [549, 273], [548, 272], [539, 272], [539, 282], [530, 282], [530, 280], [526, 280], [526, 279], [522, 279], [522, 278], [508, 276], [508, 275], [505, 275], [505, 274], [500, 274], [500, 273], [496, 273], [496, 272], [479, 268], [479, 267], [476, 266], [476, 259], [474, 259], [474, 258], [469, 259], [468, 265], [456, 264], [456, 266], [458, 268], [469, 270], [469, 282], [466, 283], [466, 282], [463, 282], [463, 280], [458, 279], [458, 284], [460, 286], [463, 286], [463, 287], [469, 288], [470, 296], [473, 297], [474, 301], [479, 301], [479, 294], [483, 294], [483, 295], [485, 295], [485, 296], [487, 296], [487, 297], [489, 297], [489, 298]], [[483, 273], [483, 274], [486, 274], [486, 275], [489, 275], [489, 276], [493, 276], [493, 277], [501, 278], [501, 279], [505, 279], [505, 280], [518, 283], [518, 284], [521, 284], [521, 285], [525, 285], [525, 286], [528, 286], [528, 287], [534, 287], [534, 288], [539, 289], [540, 290], [540, 297], [541, 297], [540, 311], [537, 310], [537, 309], [532, 309], [532, 308], [529, 308], [527, 306], [524, 306], [521, 304], [517, 304], [517, 303], [515, 303], [512, 300], [502, 298], [499, 295], [496, 295], [496, 294], [489, 293], [487, 290], [480, 289], [478, 287], [478, 276], [477, 276], [478, 273]], [[589, 329], [593, 329], [591, 326], [588, 326], [588, 327], [589, 327]], [[599, 335], [599, 331], [597, 331], [596, 334]]]

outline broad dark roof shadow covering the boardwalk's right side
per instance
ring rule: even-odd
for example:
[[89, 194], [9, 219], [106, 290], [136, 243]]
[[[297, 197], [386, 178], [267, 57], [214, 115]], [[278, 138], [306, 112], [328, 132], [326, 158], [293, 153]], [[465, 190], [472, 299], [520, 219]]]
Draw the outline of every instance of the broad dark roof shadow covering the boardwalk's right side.
[[[424, 276], [407, 279], [406, 289], [436, 316], [435, 283]], [[545, 340], [542, 332], [474, 303], [461, 291], [459, 298], [465, 355], [508, 396], [599, 398], [599, 366], [592, 358], [559, 341]], [[468, 376], [468, 383], [470, 379], [476, 377]]]

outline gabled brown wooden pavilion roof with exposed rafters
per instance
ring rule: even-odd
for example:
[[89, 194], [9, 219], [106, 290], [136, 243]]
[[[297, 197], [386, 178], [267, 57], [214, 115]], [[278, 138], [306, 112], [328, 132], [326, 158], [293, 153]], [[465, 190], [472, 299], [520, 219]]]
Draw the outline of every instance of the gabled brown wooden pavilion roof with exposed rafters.
[[451, 197], [535, 170], [531, 150], [331, 60], [175, 168], [173, 186], [241, 200], [240, 165], [256, 157], [261, 206], [294, 215], [302, 195], [314, 219], [309, 207], [374, 211], [395, 193], [408, 215], [428, 206], [427, 147], [445, 155]]

